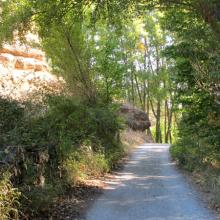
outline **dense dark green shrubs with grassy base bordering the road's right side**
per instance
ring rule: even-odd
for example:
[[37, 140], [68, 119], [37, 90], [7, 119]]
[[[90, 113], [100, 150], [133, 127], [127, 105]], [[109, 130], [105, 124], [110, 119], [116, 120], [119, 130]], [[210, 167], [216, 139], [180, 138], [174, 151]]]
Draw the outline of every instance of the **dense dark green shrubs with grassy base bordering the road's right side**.
[[172, 156], [184, 169], [199, 174], [202, 185], [220, 204], [220, 109], [207, 93], [188, 99], [179, 123], [179, 135], [171, 147]]

